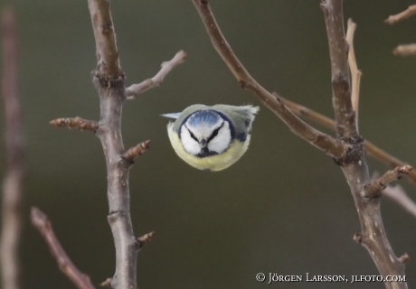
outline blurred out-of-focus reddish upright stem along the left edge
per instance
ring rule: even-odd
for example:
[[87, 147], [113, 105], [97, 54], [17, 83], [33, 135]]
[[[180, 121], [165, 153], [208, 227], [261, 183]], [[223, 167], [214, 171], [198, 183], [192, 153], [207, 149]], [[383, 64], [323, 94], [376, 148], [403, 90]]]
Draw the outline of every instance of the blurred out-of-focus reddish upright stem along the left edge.
[[2, 288], [18, 289], [21, 233], [21, 199], [24, 178], [24, 144], [19, 101], [17, 99], [17, 51], [14, 13], [11, 8], [2, 13], [3, 80], [5, 105], [6, 169], [3, 184], [2, 234], [0, 240]]

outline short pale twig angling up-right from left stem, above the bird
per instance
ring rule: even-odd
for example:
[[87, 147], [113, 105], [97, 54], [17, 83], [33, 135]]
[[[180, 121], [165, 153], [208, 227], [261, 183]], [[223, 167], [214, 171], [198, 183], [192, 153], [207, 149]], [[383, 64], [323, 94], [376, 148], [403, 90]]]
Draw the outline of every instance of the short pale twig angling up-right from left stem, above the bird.
[[171, 70], [175, 69], [177, 65], [183, 63], [185, 58], [186, 53], [184, 51], [178, 51], [172, 60], [162, 63], [162, 69], [157, 72], [157, 74], [152, 79], [146, 79], [143, 82], [129, 86], [126, 89], [126, 96], [128, 99], [136, 98], [140, 93], [146, 91], [147, 89], [152, 89], [161, 85], [165, 79], [165, 76]]

